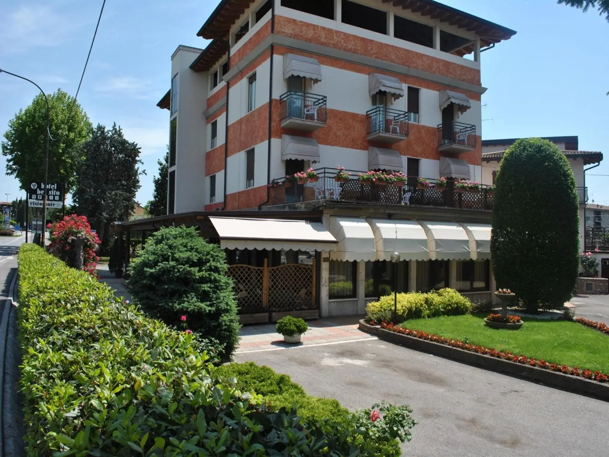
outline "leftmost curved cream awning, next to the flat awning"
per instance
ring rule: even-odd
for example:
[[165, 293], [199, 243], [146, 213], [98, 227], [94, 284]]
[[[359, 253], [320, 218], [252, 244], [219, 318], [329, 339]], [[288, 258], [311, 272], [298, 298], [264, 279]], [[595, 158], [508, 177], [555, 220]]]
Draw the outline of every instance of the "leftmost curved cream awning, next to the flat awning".
[[332, 260], [376, 260], [375, 235], [365, 219], [330, 216], [328, 228], [338, 242]]

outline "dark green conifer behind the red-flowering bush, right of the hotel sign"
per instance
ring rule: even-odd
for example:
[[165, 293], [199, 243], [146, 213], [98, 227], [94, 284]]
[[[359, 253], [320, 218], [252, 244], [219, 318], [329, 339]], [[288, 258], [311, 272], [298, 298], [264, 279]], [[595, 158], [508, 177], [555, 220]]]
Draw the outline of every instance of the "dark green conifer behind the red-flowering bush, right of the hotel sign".
[[102, 250], [109, 246], [110, 222], [126, 221], [135, 208], [139, 189], [139, 147], [127, 141], [121, 127], [110, 130], [97, 124], [91, 139], [83, 143], [84, 157], [78, 168], [73, 198], [77, 212], [97, 230]]

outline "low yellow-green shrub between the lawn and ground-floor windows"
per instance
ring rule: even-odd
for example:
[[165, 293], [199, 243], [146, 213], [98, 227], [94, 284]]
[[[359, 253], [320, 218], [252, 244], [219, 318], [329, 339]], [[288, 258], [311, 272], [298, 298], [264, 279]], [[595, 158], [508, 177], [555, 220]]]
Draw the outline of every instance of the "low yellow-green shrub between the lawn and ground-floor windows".
[[[471, 310], [471, 302], [454, 289], [444, 288], [439, 291], [410, 292], [398, 294], [397, 322], [421, 317], [450, 316], [467, 314]], [[393, 295], [381, 297], [378, 302], [368, 303], [366, 317], [368, 321], [393, 322]]]

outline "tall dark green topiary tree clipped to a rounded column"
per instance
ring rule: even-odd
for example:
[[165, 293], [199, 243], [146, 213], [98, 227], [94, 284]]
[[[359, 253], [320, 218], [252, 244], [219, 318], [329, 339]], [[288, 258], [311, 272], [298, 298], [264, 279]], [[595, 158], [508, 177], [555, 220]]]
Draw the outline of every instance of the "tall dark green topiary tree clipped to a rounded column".
[[579, 199], [565, 154], [540, 138], [518, 140], [496, 177], [491, 258], [499, 288], [530, 311], [571, 298], [579, 269]]

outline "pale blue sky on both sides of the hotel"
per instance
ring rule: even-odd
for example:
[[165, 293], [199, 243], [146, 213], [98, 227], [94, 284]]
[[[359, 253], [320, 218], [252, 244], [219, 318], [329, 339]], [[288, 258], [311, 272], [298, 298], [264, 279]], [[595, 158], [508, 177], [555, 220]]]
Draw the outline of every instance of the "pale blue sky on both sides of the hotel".
[[[117, 122], [142, 148], [147, 175], [137, 199], [152, 197], [157, 159], [165, 151], [169, 112], [156, 104], [169, 89], [178, 44], [204, 48], [197, 30], [218, 0], [107, 0], [79, 102], [93, 124]], [[579, 147], [606, 159], [586, 185], [595, 203], [609, 205], [609, 23], [555, 0], [444, 0], [468, 13], [517, 30], [482, 54], [482, 137], [579, 135]], [[44, 91], [76, 93], [101, 0], [0, 2], [0, 68], [29, 77]], [[0, 74], [0, 135], [37, 89]], [[485, 120], [488, 119], [488, 120]], [[0, 199], [19, 185], [2, 174]], [[21, 191], [21, 194], [24, 194]]]

